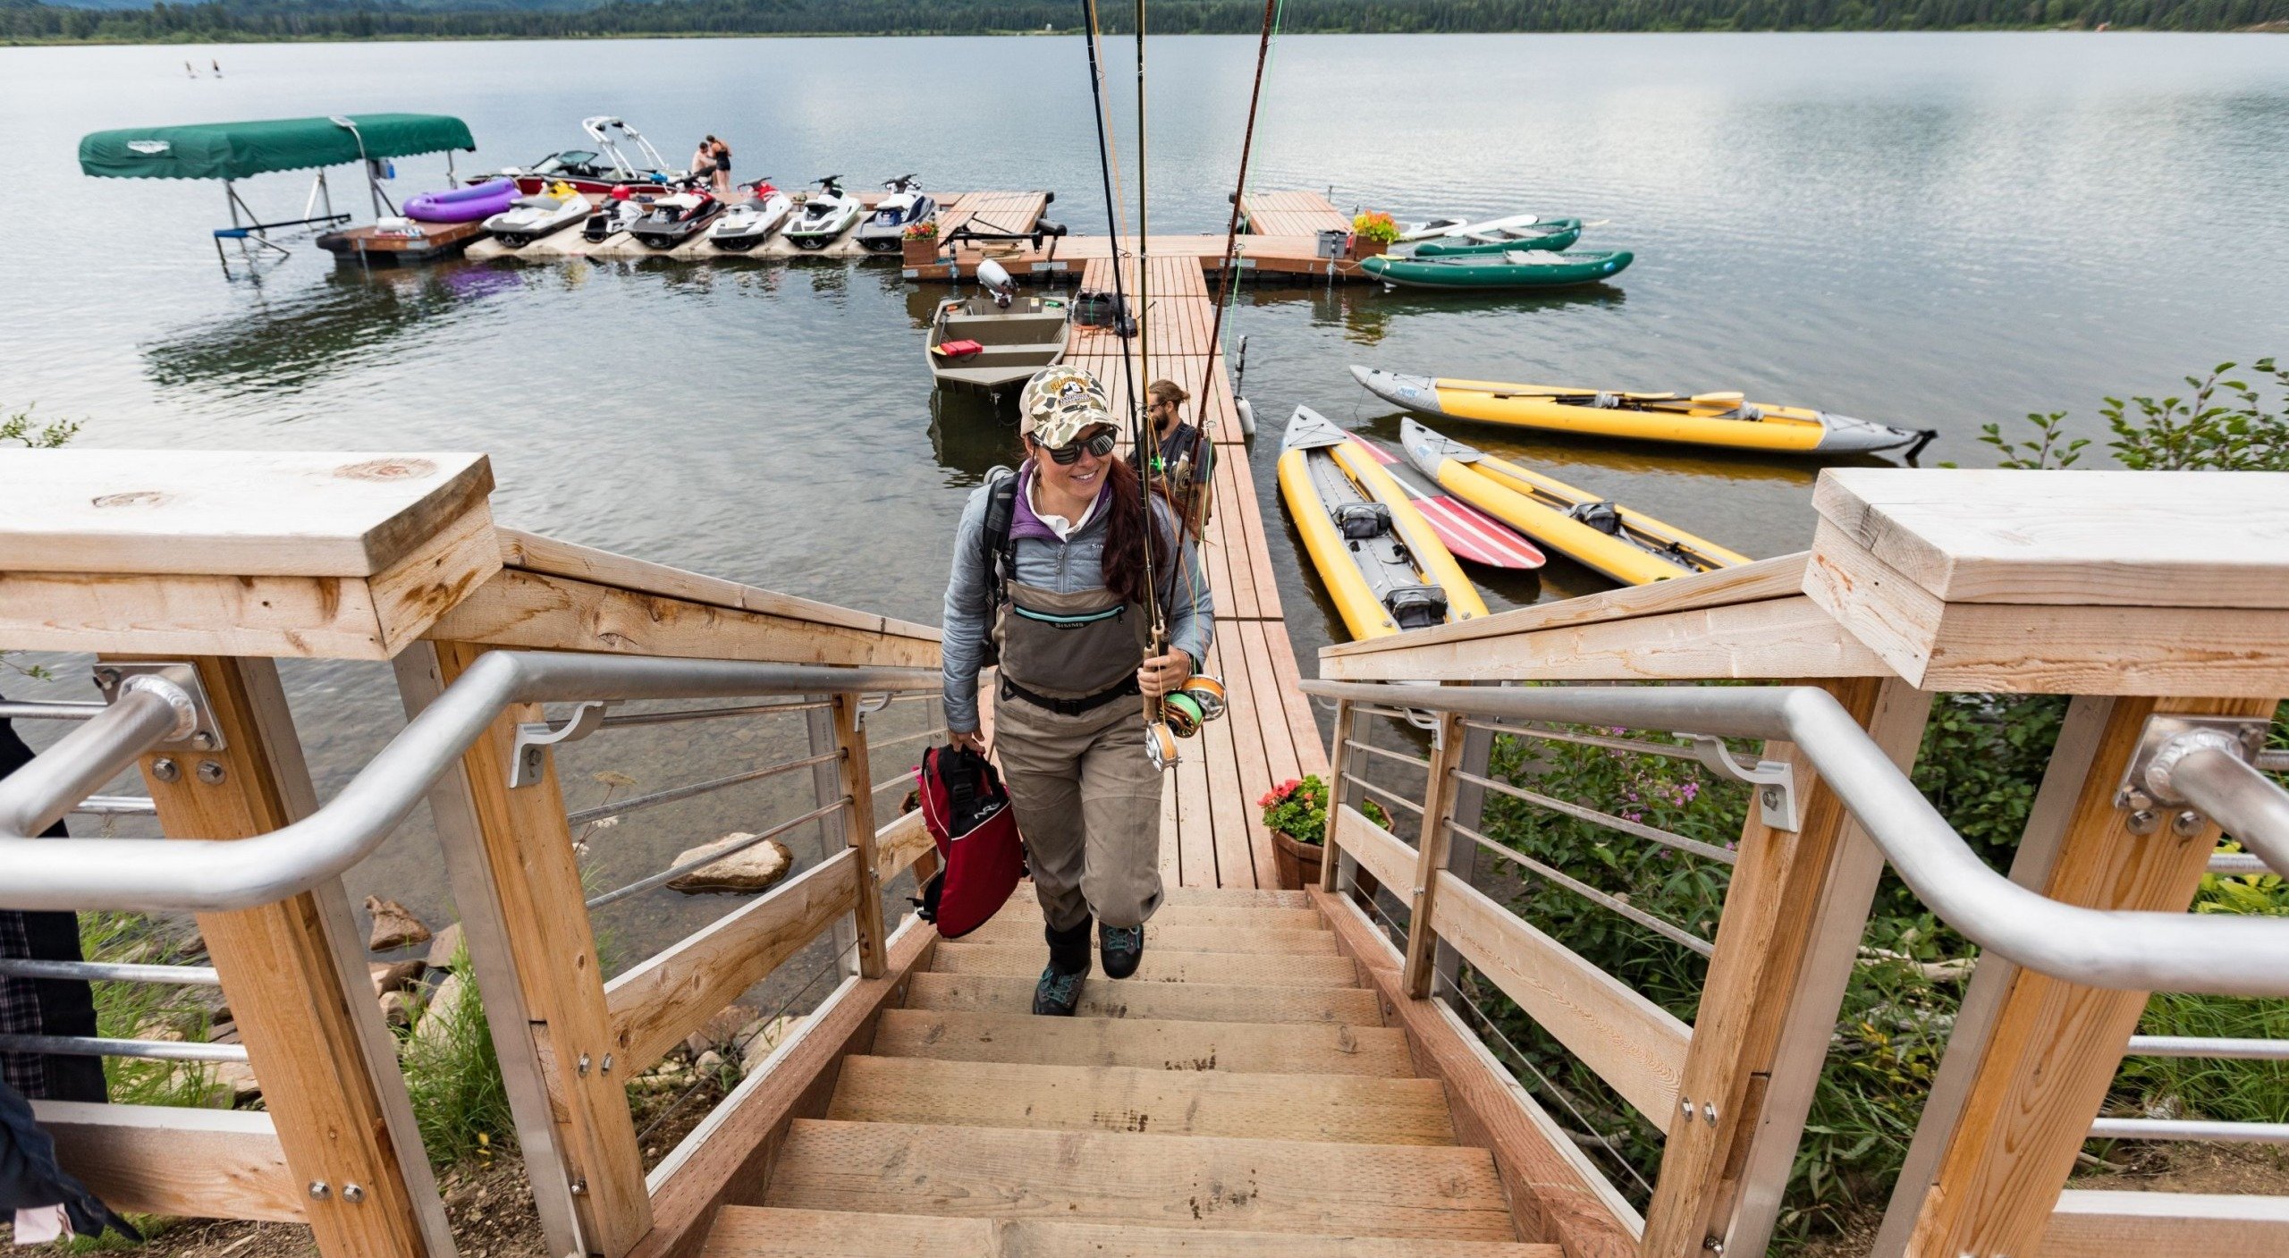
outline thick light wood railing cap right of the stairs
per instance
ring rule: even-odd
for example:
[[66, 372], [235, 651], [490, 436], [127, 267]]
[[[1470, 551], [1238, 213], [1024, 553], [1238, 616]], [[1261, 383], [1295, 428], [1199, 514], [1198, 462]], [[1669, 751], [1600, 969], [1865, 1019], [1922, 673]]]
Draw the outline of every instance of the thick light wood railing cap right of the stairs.
[[1925, 691], [2289, 693], [2289, 473], [1829, 469], [1804, 592]]

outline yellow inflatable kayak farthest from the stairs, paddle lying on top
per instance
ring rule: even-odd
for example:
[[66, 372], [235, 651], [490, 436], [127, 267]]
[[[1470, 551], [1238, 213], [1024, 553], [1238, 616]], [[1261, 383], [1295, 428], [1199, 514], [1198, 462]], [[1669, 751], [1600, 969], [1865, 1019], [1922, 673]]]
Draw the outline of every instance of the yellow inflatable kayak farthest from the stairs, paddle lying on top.
[[1744, 403], [1740, 393], [1602, 393], [1561, 384], [1433, 380], [1364, 366], [1351, 368], [1351, 375], [1369, 393], [1412, 412], [1584, 437], [1792, 455], [1850, 455], [1907, 446], [1907, 457], [1916, 457], [1936, 437], [1930, 430], [1893, 428], [1847, 414]]

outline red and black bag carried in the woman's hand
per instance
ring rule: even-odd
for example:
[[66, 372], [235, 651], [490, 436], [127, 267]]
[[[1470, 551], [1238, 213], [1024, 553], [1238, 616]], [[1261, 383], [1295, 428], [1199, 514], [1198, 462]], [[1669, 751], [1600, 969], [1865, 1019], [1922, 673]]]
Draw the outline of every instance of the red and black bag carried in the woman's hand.
[[920, 917], [957, 940], [984, 926], [1025, 876], [1009, 791], [993, 762], [968, 748], [929, 748], [913, 771], [922, 826], [938, 842], [938, 871], [922, 887]]

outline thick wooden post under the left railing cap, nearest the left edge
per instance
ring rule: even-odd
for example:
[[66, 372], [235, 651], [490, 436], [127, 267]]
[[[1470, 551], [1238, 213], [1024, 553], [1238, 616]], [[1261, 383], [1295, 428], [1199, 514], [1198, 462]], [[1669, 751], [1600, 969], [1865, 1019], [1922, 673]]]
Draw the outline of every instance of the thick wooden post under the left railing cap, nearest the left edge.
[[[224, 748], [142, 757], [167, 837], [245, 839], [307, 817], [316, 801], [277, 666], [224, 656], [195, 656], [192, 666]], [[343, 917], [334, 931], [353, 929], [339, 883], [330, 890], [332, 903], [325, 892], [302, 892], [261, 908], [199, 913], [199, 935], [222, 974], [318, 1251], [451, 1253], [373, 990], [362, 972], [357, 984], [346, 981], [327, 940], [330, 906]]]

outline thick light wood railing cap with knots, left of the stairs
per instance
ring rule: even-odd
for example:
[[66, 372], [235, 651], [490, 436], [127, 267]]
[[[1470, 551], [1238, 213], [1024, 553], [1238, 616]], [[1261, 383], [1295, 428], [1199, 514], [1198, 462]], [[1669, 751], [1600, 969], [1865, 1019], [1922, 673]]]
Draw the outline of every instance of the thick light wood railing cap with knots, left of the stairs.
[[389, 659], [501, 570], [478, 453], [0, 453], [0, 647]]

